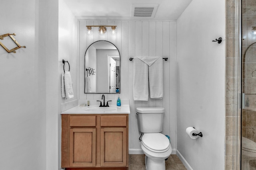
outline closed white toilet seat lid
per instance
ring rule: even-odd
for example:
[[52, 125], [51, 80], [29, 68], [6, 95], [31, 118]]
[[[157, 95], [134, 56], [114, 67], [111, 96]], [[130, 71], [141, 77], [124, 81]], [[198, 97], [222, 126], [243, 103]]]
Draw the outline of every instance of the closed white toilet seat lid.
[[161, 153], [170, 148], [170, 141], [162, 133], [145, 133], [142, 136], [142, 145], [152, 152]]

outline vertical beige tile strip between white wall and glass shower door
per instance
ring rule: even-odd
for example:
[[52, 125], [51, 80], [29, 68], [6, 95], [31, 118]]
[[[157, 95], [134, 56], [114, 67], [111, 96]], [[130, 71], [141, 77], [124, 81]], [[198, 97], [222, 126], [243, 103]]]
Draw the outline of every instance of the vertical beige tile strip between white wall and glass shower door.
[[[236, 1], [226, 0], [226, 170], [239, 169], [240, 150], [237, 145], [240, 132], [240, 118], [237, 112], [237, 79], [239, 78], [239, 63], [236, 49]], [[238, 138], [237, 138], [238, 137]]]

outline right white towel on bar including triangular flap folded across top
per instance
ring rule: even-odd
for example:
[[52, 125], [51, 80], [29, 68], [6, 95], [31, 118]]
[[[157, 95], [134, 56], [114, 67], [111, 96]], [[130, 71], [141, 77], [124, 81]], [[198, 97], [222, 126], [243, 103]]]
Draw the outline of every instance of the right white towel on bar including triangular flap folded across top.
[[[135, 57], [134, 57], [135, 58]], [[150, 98], [162, 99], [163, 88], [163, 61], [162, 57], [137, 57], [148, 65], [148, 81]]]

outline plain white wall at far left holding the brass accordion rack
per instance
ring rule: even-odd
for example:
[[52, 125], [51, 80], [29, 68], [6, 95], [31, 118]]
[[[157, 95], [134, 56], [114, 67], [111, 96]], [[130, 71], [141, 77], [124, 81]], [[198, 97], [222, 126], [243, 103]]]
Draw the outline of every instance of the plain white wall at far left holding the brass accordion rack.
[[58, 1], [9, 0], [1, 6], [0, 35], [16, 33], [26, 46], [16, 53], [0, 47], [1, 167], [57, 169]]

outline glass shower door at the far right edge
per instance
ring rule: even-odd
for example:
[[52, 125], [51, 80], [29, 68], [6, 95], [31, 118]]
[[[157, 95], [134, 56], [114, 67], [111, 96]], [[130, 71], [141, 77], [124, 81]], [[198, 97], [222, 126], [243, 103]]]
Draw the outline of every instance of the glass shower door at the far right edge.
[[242, 0], [241, 170], [256, 170], [256, 1]]

